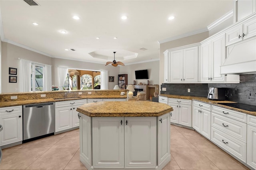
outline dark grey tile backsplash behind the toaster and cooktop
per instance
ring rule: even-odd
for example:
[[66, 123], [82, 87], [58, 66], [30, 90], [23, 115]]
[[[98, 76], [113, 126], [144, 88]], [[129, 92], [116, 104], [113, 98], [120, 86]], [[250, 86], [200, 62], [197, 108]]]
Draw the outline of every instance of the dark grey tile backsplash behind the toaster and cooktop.
[[[256, 105], [256, 74], [240, 75], [240, 83], [163, 83], [162, 94], [207, 97], [209, 87], [226, 88], [227, 100]], [[188, 92], [190, 89], [190, 93]]]

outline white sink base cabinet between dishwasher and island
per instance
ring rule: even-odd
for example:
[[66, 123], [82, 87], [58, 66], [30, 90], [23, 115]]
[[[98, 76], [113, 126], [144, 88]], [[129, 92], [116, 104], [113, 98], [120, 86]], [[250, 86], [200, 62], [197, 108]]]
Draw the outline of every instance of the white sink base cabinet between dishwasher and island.
[[55, 132], [79, 126], [76, 109], [86, 103], [85, 99], [55, 103]]

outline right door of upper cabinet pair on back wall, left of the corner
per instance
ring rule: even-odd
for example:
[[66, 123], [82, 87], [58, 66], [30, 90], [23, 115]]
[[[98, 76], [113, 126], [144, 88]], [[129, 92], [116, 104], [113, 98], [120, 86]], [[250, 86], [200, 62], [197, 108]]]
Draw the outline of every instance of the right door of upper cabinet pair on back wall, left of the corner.
[[198, 47], [183, 50], [183, 82], [198, 82]]

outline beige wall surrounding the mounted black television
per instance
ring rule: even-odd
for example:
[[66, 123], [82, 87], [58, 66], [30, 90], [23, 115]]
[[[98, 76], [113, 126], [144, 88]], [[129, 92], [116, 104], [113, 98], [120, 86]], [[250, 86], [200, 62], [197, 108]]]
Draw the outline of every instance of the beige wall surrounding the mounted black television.
[[[136, 80], [135, 70], [144, 70], [144, 69], [148, 69], [148, 79]], [[136, 81], [136, 84], [140, 82], [147, 84], [147, 80], [149, 80], [150, 84], [159, 85], [159, 60], [120, 67], [120, 74], [128, 74], [128, 84], [132, 84], [134, 80]]]

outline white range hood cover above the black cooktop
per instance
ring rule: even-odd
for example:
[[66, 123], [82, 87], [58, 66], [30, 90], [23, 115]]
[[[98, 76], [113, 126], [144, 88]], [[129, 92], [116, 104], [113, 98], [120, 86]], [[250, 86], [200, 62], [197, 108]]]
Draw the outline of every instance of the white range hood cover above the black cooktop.
[[256, 37], [226, 47], [226, 60], [221, 74], [249, 74], [256, 72]]

